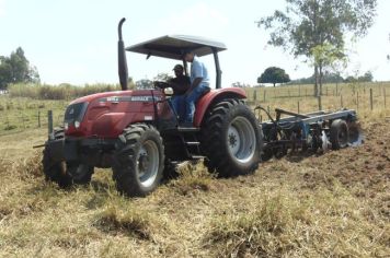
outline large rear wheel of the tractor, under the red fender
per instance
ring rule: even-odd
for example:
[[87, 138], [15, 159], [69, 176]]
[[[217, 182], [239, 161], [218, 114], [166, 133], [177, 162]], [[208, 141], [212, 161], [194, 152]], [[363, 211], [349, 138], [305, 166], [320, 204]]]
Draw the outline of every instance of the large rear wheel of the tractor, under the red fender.
[[263, 146], [261, 128], [243, 102], [225, 99], [216, 104], [205, 118], [202, 134], [209, 171], [231, 177], [257, 168]]

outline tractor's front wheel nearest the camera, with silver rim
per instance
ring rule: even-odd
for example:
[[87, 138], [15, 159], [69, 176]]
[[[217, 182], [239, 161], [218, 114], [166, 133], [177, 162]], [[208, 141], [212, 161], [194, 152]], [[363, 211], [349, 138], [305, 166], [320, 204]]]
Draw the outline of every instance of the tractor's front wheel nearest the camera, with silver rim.
[[147, 124], [135, 124], [119, 137], [113, 178], [118, 191], [136, 197], [146, 196], [160, 184], [164, 168], [164, 148], [159, 131]]

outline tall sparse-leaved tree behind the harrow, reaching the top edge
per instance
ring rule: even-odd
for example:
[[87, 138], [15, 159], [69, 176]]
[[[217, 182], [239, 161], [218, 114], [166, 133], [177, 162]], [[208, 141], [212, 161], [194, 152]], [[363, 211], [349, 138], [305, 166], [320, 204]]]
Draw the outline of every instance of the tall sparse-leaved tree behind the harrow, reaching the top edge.
[[[328, 63], [316, 58], [316, 51], [330, 47], [334, 57], [331, 62], [345, 58], [346, 33], [354, 38], [367, 34], [374, 23], [377, 0], [286, 0], [286, 3], [285, 12], [276, 10], [274, 15], [262, 17], [257, 25], [272, 30], [269, 45], [312, 60], [314, 95], [318, 96], [322, 69]], [[326, 56], [326, 51], [323, 55]]]

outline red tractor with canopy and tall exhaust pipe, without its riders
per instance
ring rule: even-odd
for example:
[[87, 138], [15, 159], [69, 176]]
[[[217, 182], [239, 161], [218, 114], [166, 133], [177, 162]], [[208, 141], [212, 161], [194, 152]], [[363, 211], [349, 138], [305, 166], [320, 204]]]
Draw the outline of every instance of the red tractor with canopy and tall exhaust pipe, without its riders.
[[117, 189], [127, 196], [154, 190], [165, 172], [187, 160], [204, 159], [210, 172], [230, 177], [256, 169], [262, 131], [244, 104], [242, 89], [221, 89], [218, 52], [226, 46], [190, 36], [163, 36], [126, 48], [128, 51], [183, 61], [183, 52], [214, 55], [216, 89], [196, 104], [194, 125], [182, 128], [160, 89], [127, 89], [127, 64], [118, 24], [118, 72], [123, 91], [74, 99], [66, 109], [64, 128], [50, 133], [44, 150], [47, 180], [61, 187], [88, 184], [94, 167], [111, 167]]

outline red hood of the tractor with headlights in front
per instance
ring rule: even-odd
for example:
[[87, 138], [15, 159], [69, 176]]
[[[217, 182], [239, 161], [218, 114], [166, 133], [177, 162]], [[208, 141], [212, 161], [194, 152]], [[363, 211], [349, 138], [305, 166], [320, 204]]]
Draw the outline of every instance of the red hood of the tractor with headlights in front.
[[80, 97], [65, 112], [66, 136], [115, 138], [130, 122], [153, 120], [159, 90], [116, 91]]

